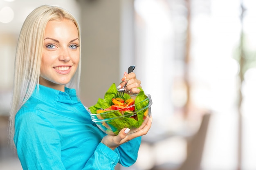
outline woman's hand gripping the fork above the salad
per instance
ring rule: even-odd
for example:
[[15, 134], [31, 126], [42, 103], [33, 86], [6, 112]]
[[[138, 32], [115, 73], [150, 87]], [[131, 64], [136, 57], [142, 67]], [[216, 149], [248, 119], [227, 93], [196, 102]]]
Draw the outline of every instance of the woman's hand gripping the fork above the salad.
[[[122, 81], [129, 80], [126, 85], [126, 93], [129, 93], [130, 95], [132, 95], [140, 92], [140, 90], [137, 87], [141, 87], [140, 85], [141, 81], [136, 78], [135, 73], [132, 72], [127, 74], [126, 72], [124, 72], [124, 77], [121, 80]], [[124, 84], [125, 82], [122, 82], [121, 84], [119, 84], [117, 88], [124, 87]]]

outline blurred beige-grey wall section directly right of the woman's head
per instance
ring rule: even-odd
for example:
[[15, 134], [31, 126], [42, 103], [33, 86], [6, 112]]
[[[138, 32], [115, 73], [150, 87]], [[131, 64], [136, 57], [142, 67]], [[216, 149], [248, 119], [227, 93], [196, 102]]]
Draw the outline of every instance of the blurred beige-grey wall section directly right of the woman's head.
[[133, 0], [78, 2], [82, 37], [80, 97], [89, 107], [104, 97], [112, 83], [118, 86], [124, 71], [134, 64], [133, 25], [127, 24], [133, 22]]

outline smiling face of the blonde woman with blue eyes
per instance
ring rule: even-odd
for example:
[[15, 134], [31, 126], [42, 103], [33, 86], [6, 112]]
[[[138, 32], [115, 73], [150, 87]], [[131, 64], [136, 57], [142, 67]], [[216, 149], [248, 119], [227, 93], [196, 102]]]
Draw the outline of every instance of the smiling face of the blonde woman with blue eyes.
[[69, 20], [49, 21], [45, 28], [39, 84], [64, 91], [79, 64], [79, 34]]

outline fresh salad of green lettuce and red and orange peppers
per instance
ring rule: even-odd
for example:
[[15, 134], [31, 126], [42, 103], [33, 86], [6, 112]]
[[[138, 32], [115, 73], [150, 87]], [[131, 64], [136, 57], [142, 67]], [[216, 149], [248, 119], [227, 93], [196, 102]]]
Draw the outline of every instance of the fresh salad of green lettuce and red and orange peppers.
[[122, 128], [139, 128], [148, 116], [149, 99], [142, 88], [137, 95], [124, 97], [116, 96], [117, 88], [113, 83], [104, 99], [99, 98], [94, 106], [90, 106], [90, 115], [94, 122], [100, 122], [106, 131], [112, 131], [115, 135]]

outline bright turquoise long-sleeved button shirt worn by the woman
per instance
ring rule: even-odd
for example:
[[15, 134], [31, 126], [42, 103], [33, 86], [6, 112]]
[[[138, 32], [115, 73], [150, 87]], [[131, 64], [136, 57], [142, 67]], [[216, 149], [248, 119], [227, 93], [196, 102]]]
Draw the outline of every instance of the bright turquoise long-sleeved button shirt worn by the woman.
[[111, 150], [74, 89], [39, 85], [15, 117], [14, 142], [24, 170], [114, 170], [131, 166], [141, 137]]

